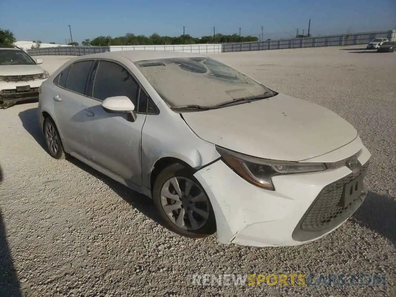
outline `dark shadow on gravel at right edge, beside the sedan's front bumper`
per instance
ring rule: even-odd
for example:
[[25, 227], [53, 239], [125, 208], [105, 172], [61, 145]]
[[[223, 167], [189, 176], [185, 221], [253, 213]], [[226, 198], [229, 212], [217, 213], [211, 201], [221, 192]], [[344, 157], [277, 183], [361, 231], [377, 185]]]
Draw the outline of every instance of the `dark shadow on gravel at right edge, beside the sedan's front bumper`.
[[352, 220], [388, 238], [396, 246], [396, 200], [374, 192], [367, 194]]

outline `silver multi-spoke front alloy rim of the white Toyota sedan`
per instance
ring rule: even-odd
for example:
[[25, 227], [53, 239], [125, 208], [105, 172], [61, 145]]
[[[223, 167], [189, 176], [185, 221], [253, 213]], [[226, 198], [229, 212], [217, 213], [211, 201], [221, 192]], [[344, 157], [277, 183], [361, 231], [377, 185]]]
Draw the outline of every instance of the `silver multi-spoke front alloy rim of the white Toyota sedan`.
[[209, 200], [202, 188], [186, 177], [172, 177], [161, 189], [161, 205], [168, 218], [185, 230], [202, 228], [209, 218]]

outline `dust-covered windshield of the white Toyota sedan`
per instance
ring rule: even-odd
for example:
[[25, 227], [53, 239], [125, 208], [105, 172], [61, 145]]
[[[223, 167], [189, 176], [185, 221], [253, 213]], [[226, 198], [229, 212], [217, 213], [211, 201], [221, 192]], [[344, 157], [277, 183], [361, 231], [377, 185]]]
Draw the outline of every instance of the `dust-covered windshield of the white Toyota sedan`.
[[268, 91], [241, 72], [208, 57], [145, 60], [135, 65], [170, 107], [212, 106]]

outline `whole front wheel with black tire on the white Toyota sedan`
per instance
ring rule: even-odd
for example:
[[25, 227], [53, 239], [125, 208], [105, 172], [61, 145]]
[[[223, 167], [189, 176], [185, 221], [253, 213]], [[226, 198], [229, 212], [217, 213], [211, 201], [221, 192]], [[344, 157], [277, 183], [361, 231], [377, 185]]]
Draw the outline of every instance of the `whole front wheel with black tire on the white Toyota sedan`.
[[[169, 230], [188, 238], [205, 238], [216, 232], [215, 214], [208, 195], [193, 174], [192, 169], [182, 164], [168, 166], [154, 182], [153, 200]], [[174, 185], [179, 185], [180, 191]]]

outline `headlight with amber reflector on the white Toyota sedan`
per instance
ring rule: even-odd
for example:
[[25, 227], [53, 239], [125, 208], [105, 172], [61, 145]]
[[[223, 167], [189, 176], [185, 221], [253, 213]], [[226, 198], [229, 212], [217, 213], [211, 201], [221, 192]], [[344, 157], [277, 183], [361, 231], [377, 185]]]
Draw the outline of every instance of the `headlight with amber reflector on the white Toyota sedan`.
[[217, 152], [238, 175], [257, 187], [275, 190], [271, 177], [293, 173], [326, 170], [324, 163], [291, 162], [256, 158], [226, 148], [217, 147]]

